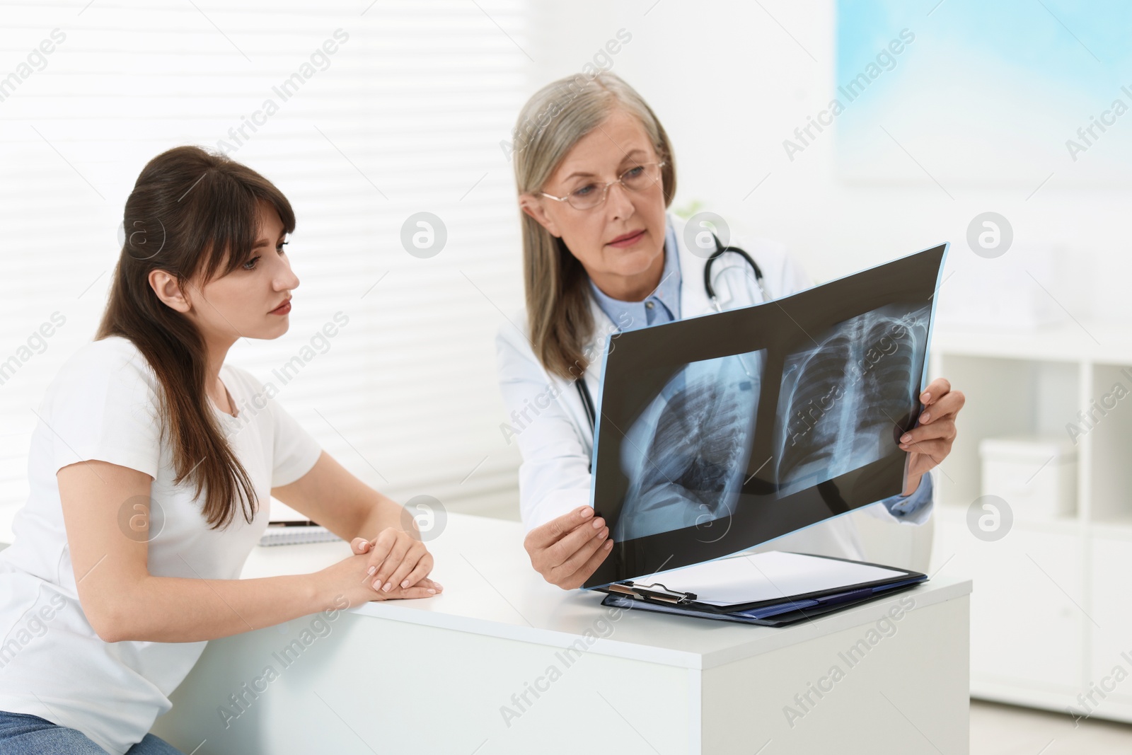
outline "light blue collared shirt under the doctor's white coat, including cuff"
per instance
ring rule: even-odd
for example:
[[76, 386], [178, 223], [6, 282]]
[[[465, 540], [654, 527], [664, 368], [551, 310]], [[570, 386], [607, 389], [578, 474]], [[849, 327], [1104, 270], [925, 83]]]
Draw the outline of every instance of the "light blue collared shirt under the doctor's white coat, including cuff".
[[[614, 299], [590, 281], [593, 298], [610, 320], [620, 323], [621, 331], [636, 331], [650, 325], [663, 325], [680, 319], [680, 258], [676, 247], [676, 231], [671, 225], [664, 233], [664, 271], [660, 285], [644, 301]], [[889, 513], [899, 520], [923, 524], [925, 508], [932, 503], [932, 475], [925, 474], [910, 496], [892, 496], [882, 501]]]

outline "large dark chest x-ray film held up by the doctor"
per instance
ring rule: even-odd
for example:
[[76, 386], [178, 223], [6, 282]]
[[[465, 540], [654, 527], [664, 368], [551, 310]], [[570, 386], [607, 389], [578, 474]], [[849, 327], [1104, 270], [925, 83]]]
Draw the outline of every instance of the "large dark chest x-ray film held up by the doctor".
[[611, 336], [595, 587], [727, 556], [903, 491], [946, 244], [783, 299]]

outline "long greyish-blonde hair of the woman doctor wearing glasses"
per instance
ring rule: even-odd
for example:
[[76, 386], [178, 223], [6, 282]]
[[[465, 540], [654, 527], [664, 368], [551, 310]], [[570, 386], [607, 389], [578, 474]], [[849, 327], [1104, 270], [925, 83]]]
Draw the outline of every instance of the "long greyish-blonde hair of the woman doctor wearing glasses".
[[[636, 117], [664, 161], [664, 206], [676, 195], [676, 157], [664, 127], [636, 89], [608, 71], [592, 78], [567, 76], [534, 93], [518, 113], [514, 151], [518, 192], [538, 194], [566, 154], [616, 110]], [[534, 355], [551, 375], [581, 377], [589, 364], [584, 348], [593, 335], [589, 276], [566, 243], [537, 220], [523, 223], [523, 283]]]

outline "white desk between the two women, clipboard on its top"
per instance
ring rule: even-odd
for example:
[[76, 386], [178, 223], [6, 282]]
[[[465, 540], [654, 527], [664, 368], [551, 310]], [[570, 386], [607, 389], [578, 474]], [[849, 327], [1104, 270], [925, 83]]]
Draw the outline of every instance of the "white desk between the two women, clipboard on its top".
[[[428, 543], [439, 598], [367, 603], [319, 623], [323, 636], [303, 636], [306, 617], [213, 641], [154, 731], [194, 755], [968, 752], [969, 581], [781, 629], [616, 615], [601, 594], [546, 584], [521, 533], [451, 515]], [[257, 548], [243, 576], [346, 552]]]

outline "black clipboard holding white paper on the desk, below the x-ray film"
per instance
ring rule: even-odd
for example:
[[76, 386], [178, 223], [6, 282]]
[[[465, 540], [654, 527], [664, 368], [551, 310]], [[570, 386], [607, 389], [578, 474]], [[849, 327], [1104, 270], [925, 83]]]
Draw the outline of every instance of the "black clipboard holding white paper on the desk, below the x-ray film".
[[602, 606], [787, 626], [925, 581], [927, 575], [909, 569], [772, 550], [609, 584], [599, 591], [609, 593]]

